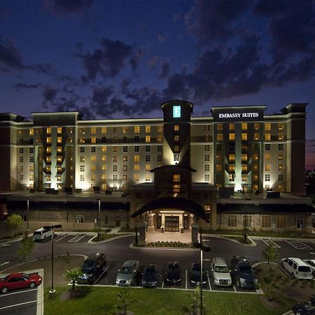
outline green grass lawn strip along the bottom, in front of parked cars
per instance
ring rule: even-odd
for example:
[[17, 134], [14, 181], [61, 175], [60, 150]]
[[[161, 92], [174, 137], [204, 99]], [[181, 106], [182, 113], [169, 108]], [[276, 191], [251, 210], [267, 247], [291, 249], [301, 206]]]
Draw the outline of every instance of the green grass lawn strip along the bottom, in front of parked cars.
[[[62, 293], [69, 290], [67, 287], [57, 287], [57, 295], [54, 299], [48, 298], [48, 290], [45, 290], [45, 315], [62, 314], [106, 314], [114, 315], [118, 309], [114, 307], [120, 301], [117, 293], [122, 288], [115, 287], [91, 287], [84, 286], [78, 288], [82, 291], [79, 297], [71, 297], [67, 300], [60, 299]], [[132, 290], [132, 298], [136, 300], [127, 307], [137, 315], [179, 315], [186, 314], [190, 303], [193, 302], [193, 290], [167, 290], [167, 289], [143, 289], [126, 288]], [[289, 299], [281, 300], [281, 304], [274, 309], [268, 309], [261, 301], [262, 295], [236, 294], [236, 293], [216, 293], [203, 291], [205, 314], [218, 315], [278, 315], [288, 311], [295, 302]]]

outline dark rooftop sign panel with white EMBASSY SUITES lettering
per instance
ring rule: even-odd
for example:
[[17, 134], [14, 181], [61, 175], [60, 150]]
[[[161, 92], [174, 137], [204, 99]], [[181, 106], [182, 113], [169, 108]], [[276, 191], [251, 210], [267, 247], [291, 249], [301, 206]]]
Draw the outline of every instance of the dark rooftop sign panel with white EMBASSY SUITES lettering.
[[211, 109], [215, 122], [261, 121], [264, 119], [264, 107], [240, 107], [239, 109], [221, 107]]

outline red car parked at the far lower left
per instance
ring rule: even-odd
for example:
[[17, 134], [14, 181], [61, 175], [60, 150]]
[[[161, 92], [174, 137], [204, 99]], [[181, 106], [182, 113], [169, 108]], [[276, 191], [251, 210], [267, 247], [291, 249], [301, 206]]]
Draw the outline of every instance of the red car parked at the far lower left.
[[43, 278], [38, 274], [25, 274], [24, 272], [8, 274], [8, 276], [0, 279], [0, 291], [7, 293], [8, 290], [17, 288], [35, 288], [41, 284], [41, 281]]

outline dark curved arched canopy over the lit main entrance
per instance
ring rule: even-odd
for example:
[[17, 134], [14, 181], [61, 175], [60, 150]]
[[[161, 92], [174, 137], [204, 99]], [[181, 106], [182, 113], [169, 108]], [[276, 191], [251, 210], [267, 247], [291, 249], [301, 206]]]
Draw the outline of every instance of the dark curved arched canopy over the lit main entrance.
[[160, 198], [153, 200], [151, 202], [148, 202], [144, 206], [142, 206], [140, 209], [135, 211], [132, 214], [132, 218], [135, 218], [136, 216], [140, 216], [141, 214], [144, 214], [146, 211], [152, 211], [157, 209], [176, 209], [181, 211], [187, 211], [190, 214], [195, 214], [195, 216], [198, 216], [199, 218], [202, 218], [202, 220], [207, 220], [206, 214], [204, 212], [204, 209], [200, 204], [197, 204], [196, 202], [193, 202], [192, 200], [188, 200], [186, 198]]

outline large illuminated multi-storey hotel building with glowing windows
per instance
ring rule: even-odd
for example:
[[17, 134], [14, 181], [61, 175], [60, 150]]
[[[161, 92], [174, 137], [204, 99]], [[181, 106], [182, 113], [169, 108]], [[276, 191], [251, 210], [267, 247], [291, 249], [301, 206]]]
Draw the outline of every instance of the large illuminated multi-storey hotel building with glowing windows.
[[[306, 106], [289, 104], [274, 115], [265, 106], [212, 107], [209, 116], [192, 118], [193, 104], [171, 101], [162, 104], [163, 118], [124, 120], [65, 112], [32, 113], [27, 121], [0, 113], [0, 190], [9, 211], [27, 190], [33, 202], [46, 193], [82, 203], [90, 192], [90, 200], [107, 203], [105, 226], [113, 225], [109, 199], [117, 196], [125, 213], [116, 224], [146, 221], [148, 231], [183, 231], [196, 222], [205, 230], [239, 229], [244, 220], [255, 230], [310, 229]], [[88, 207], [69, 207], [71, 218], [94, 221]]]

